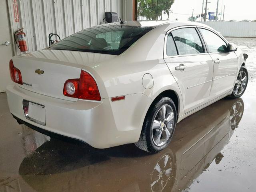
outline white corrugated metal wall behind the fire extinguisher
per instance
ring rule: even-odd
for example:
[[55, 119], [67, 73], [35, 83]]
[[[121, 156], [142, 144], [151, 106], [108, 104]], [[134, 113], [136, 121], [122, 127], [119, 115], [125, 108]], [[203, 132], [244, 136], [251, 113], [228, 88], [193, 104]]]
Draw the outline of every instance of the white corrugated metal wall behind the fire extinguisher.
[[[28, 52], [46, 48], [49, 33], [65, 38], [100, 24], [106, 11], [122, 17], [123, 9], [122, 0], [17, 0], [20, 22], [14, 22], [15, 0], [7, 1], [11, 30], [24, 28]], [[20, 54], [16, 45], [14, 53]]]

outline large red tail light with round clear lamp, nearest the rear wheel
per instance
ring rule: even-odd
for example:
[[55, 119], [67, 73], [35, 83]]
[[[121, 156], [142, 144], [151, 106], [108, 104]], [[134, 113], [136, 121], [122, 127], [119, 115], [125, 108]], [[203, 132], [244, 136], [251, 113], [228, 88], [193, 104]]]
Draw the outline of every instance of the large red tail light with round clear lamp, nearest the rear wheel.
[[81, 71], [80, 79], [66, 80], [63, 94], [79, 99], [101, 100], [100, 92], [94, 78], [83, 70]]

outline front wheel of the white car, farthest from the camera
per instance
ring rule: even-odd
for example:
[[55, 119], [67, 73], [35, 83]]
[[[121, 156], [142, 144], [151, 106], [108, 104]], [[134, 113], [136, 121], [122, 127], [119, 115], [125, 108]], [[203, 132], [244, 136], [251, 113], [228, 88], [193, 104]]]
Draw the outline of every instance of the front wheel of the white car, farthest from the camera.
[[[243, 86], [244, 81], [242, 81], [242, 83], [240, 81], [241, 80], [241, 74], [242, 74], [242, 77], [244, 77], [244, 75], [246, 75], [246, 78], [245, 78], [246, 82], [245, 82], [244, 86]], [[249, 76], [248, 76], [248, 72], [247, 72], [246, 67], [241, 66], [241, 68], [240, 68], [240, 70], [238, 72], [238, 76], [237, 76], [237, 80], [236, 80], [235, 86], [233, 88], [233, 92], [228, 97], [232, 98], [232, 99], [240, 98], [244, 94], [244, 92], [246, 90], [246, 87], [247, 87], [247, 84], [248, 84], [248, 78], [249, 78]], [[240, 86], [240, 88], [238, 88], [238, 86]], [[237, 88], [238, 88], [238, 90], [236, 90]]]

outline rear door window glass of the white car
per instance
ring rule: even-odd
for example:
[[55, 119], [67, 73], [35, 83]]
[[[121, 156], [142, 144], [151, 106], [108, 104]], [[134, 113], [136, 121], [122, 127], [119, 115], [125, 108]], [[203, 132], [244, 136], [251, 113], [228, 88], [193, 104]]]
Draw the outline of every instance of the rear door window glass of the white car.
[[202, 42], [195, 28], [172, 31], [179, 55], [204, 53]]

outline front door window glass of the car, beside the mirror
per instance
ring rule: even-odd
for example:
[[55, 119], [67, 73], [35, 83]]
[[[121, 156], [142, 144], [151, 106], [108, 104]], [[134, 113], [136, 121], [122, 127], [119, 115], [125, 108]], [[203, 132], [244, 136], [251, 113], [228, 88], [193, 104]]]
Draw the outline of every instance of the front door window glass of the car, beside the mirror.
[[200, 29], [200, 31], [210, 52], [227, 52], [227, 44], [222, 38], [206, 29]]

